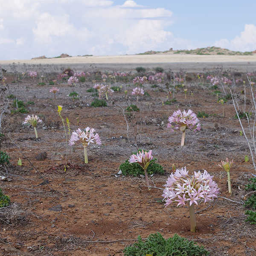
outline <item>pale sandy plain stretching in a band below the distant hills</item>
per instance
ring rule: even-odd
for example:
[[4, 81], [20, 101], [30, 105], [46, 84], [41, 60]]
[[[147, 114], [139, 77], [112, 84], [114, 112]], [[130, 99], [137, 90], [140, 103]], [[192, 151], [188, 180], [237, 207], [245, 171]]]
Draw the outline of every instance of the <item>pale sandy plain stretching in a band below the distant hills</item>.
[[[39, 60], [9, 60], [1, 61], [0, 66], [10, 67], [17, 64], [17, 71], [24, 71], [26, 67], [36, 69], [38, 65], [57, 71], [65, 67], [77, 71], [131, 71], [138, 66], [146, 68], [163, 67], [165, 70], [178, 71], [181, 68], [187, 72], [200, 72], [204, 68], [214, 67], [232, 68], [241, 72], [256, 70], [256, 55], [188, 55], [188, 54], [155, 54], [155, 55], [116, 55], [116, 56], [76, 56], [69, 58], [47, 58]], [[25, 65], [26, 64], [26, 65]], [[54, 67], [54, 68], [53, 68]]]

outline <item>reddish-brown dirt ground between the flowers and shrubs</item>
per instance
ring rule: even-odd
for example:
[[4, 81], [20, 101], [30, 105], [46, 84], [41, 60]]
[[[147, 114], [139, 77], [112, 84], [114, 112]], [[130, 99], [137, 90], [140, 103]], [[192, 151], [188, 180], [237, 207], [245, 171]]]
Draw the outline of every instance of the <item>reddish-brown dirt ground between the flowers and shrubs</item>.
[[[9, 80], [11, 81], [11, 79]], [[131, 87], [122, 84], [123, 91]], [[113, 243], [88, 243], [87, 241], [112, 241], [147, 237], [150, 233], [160, 232], [165, 238], [175, 233], [204, 245], [211, 255], [255, 255], [256, 230], [245, 222], [244, 207], [241, 204], [218, 198], [213, 203], [200, 204], [196, 210], [206, 210], [197, 215], [198, 232], [189, 231], [188, 208], [174, 205], [164, 207], [159, 202], [162, 191], [148, 191], [140, 177], [115, 177], [120, 163], [126, 160], [132, 151], [136, 151], [134, 127], [130, 126], [130, 139], [126, 137], [126, 124], [119, 108], [113, 107], [111, 100], [124, 108], [128, 105], [124, 93], [114, 93], [108, 101], [108, 107], [91, 108], [91, 93], [86, 89], [91, 84], [77, 84], [70, 87], [59, 84], [60, 93], [52, 99], [50, 85], [38, 86], [28, 79], [19, 83], [10, 83], [8, 94], [15, 94], [29, 105], [29, 113], [38, 114], [49, 126], [38, 128], [38, 140], [34, 140], [33, 129], [24, 128], [26, 114], [14, 114], [9, 117], [9, 137], [17, 143], [33, 165], [41, 172], [47, 185], [39, 185], [43, 180], [36, 174], [25, 157], [9, 139], [2, 147], [11, 156], [13, 166], [9, 166], [11, 182], [0, 182], [0, 186], [12, 202], [19, 203], [29, 215], [26, 224], [1, 224], [0, 255], [33, 256], [121, 256], [122, 250], [131, 241]], [[157, 162], [166, 170], [165, 175], [155, 175], [151, 183], [163, 187], [172, 164], [186, 166], [190, 172], [206, 169], [221, 189], [221, 196], [241, 201], [249, 173], [254, 172], [252, 164], [244, 163], [248, 154], [247, 144], [239, 136], [239, 123], [234, 119], [231, 102], [225, 104], [225, 118], [221, 116], [221, 105], [209, 90], [196, 85], [188, 85], [193, 96], [184, 99], [180, 91], [176, 94], [177, 102], [162, 105], [166, 93], [145, 85], [151, 97], [143, 97], [138, 104], [141, 109], [136, 113], [137, 120], [142, 118], [142, 128], [138, 146], [152, 149]], [[240, 91], [241, 88], [238, 88]], [[67, 94], [76, 91], [81, 95], [73, 102]], [[130, 102], [136, 99], [130, 97]], [[64, 130], [57, 113], [57, 105], [63, 105], [62, 116], [68, 117], [71, 130], [91, 126], [102, 139], [102, 145], [88, 148], [89, 163], [83, 163], [83, 151], [77, 145], [68, 154], [69, 167], [64, 172], [65, 138]], [[211, 114], [202, 119], [202, 131], [198, 134], [188, 132], [185, 146], [181, 148], [180, 134], [171, 133], [166, 127], [168, 116], [173, 111], [191, 108], [195, 113], [205, 111]], [[78, 118], [78, 119], [77, 119]], [[161, 123], [164, 125], [161, 125]], [[133, 122], [134, 123], [134, 122]], [[47, 152], [46, 160], [36, 160], [41, 152]], [[22, 159], [22, 166], [17, 167], [17, 160]], [[234, 158], [231, 173], [233, 195], [228, 195], [225, 173], [218, 163], [224, 158]], [[1, 172], [4, 170], [2, 169]], [[239, 190], [241, 189], [241, 190]], [[211, 205], [213, 206], [211, 207]], [[49, 208], [61, 205], [61, 211]], [[2, 254], [1, 254], [2, 253]]]

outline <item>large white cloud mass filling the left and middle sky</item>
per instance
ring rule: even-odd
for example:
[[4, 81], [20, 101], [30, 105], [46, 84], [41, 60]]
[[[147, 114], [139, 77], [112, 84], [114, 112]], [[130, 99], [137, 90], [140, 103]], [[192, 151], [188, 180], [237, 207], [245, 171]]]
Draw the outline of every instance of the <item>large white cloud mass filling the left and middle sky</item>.
[[63, 52], [131, 54], [190, 45], [166, 29], [172, 24], [170, 10], [139, 6], [134, 0], [124, 0], [123, 5], [110, 0], [0, 0], [1, 4], [3, 59]]

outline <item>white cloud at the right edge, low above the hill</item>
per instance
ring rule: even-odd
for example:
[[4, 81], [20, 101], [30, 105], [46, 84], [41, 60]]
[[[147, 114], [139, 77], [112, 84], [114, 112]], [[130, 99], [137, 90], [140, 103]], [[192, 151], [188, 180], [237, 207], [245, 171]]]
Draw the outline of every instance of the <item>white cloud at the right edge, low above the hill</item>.
[[221, 39], [215, 42], [215, 46], [234, 51], [253, 51], [256, 49], [256, 26], [245, 24], [244, 31], [232, 40]]

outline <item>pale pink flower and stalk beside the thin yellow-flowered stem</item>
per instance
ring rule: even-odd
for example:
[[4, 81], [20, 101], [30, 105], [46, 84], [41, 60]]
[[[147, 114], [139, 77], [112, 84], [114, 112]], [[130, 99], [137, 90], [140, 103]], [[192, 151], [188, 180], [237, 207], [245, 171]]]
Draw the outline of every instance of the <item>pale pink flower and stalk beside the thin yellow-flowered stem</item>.
[[86, 127], [83, 131], [78, 128], [76, 131], [73, 131], [70, 137], [70, 146], [74, 145], [75, 143], [82, 143], [84, 147], [84, 163], [88, 163], [87, 157], [87, 146], [90, 143], [96, 143], [101, 145], [101, 140], [99, 138], [99, 134], [95, 133], [94, 128]]

